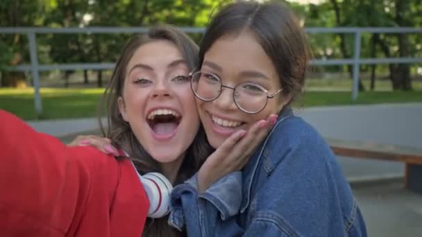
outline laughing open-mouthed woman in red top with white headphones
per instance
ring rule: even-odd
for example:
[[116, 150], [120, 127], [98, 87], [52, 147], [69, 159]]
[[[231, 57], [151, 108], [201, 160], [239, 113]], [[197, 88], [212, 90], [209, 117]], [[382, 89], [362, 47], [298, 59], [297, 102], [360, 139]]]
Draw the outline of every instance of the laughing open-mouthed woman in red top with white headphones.
[[0, 111], [0, 236], [185, 235], [167, 224], [167, 216], [160, 218], [169, 192], [159, 186], [169, 191], [208, 156], [217, 163], [245, 160], [244, 148], [269, 130], [261, 121], [210, 155], [188, 77], [197, 56], [196, 44], [169, 26], [128, 42], [105, 91], [106, 134], [119, 148], [112, 150], [117, 159], [64, 146]]

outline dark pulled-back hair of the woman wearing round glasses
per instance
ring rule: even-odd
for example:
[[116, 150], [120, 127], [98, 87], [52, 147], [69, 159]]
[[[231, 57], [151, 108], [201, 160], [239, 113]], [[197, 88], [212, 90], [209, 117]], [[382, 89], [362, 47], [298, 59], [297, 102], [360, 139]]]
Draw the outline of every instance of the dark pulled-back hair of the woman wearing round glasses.
[[236, 1], [224, 6], [205, 31], [199, 64], [214, 42], [245, 30], [254, 34], [276, 67], [282, 92], [292, 98], [299, 96], [305, 82], [310, 50], [303, 28], [294, 13], [282, 3]]

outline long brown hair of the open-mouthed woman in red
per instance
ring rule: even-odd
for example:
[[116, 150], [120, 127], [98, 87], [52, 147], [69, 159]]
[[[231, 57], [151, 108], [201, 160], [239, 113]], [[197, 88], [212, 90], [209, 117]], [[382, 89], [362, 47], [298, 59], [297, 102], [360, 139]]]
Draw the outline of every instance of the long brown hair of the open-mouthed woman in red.
[[[135, 51], [140, 46], [156, 40], [168, 40], [169, 42], [174, 43], [182, 53], [189, 69], [194, 69], [198, 62], [198, 46], [185, 35], [185, 33], [180, 32], [180, 30], [172, 26], [156, 26], [150, 28], [147, 33], [136, 35], [126, 44], [123, 53], [121, 53], [119, 60], [117, 60], [112, 78], [105, 88], [100, 103], [100, 111], [105, 111], [108, 123], [107, 128], [104, 128], [101, 119], [99, 120], [103, 135], [110, 138], [115, 146], [123, 148], [128, 152], [130, 159], [133, 160], [135, 167], [141, 174], [160, 172], [160, 166], [158, 161], [155, 161], [153, 157], [144, 150], [137, 141], [135, 134], [133, 134], [129, 123], [124, 121], [121, 117], [117, 98], [122, 96], [126, 67]], [[185, 159], [183, 160], [176, 177], [176, 184], [179, 184], [194, 175], [194, 173], [199, 170], [199, 167], [201, 167], [206, 157], [208, 157], [210, 151], [210, 145], [208, 144], [208, 141], [206, 141], [205, 132], [201, 125], [193, 143], [187, 149]], [[177, 231], [167, 224], [167, 216], [158, 219], [147, 218], [144, 233], [142, 234], [142, 236], [185, 235], [184, 231]]]

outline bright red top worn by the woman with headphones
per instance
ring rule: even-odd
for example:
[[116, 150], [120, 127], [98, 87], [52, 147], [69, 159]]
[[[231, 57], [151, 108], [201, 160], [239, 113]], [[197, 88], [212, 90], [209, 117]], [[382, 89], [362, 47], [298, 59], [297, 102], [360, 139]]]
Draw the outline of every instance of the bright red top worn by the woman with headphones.
[[0, 110], [0, 236], [141, 236], [149, 209], [128, 159], [68, 148]]

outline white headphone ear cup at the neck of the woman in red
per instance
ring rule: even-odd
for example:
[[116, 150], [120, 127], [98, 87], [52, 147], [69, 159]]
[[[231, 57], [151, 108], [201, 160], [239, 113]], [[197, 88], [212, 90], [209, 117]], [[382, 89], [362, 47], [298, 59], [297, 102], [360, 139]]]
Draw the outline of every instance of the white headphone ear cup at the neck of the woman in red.
[[170, 211], [170, 193], [173, 186], [160, 173], [146, 173], [141, 177], [142, 185], [149, 200], [149, 218], [161, 218]]

